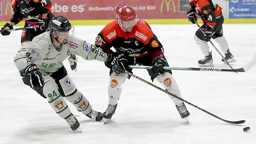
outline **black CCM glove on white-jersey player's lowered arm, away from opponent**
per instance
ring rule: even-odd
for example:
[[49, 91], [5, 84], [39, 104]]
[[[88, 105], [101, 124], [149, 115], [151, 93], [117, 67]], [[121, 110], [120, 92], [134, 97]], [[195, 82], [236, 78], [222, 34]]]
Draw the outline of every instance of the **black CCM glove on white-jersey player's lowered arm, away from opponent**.
[[34, 89], [36, 86], [42, 86], [44, 84], [44, 79], [42, 73], [36, 64], [30, 64], [25, 68], [25, 75], [29, 77], [30, 87]]

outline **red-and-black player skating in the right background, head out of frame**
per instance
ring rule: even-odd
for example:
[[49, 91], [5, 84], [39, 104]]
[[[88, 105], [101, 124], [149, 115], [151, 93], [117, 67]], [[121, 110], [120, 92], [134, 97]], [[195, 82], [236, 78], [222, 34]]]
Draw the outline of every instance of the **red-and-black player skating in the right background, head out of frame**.
[[[199, 45], [204, 59], [198, 61], [199, 66], [214, 66], [212, 53], [209, 51], [208, 41], [213, 38], [221, 50], [225, 54], [225, 59], [227, 62], [235, 62], [234, 56], [230, 53], [228, 42], [223, 36], [224, 17], [222, 15], [222, 8], [219, 5], [213, 4], [212, 0], [189, 0], [190, 10], [187, 12], [188, 20], [193, 24], [194, 18], [197, 20], [195, 13], [197, 13], [203, 20], [203, 25], [201, 26], [205, 35], [198, 29], [194, 36], [195, 41]], [[224, 59], [222, 62], [226, 63]]]

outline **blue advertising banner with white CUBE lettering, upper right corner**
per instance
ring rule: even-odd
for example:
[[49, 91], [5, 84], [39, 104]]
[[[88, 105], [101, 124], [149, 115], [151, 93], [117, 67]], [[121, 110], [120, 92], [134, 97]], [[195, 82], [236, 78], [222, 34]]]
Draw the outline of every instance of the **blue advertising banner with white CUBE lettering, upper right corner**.
[[229, 0], [229, 18], [256, 18], [256, 0]]

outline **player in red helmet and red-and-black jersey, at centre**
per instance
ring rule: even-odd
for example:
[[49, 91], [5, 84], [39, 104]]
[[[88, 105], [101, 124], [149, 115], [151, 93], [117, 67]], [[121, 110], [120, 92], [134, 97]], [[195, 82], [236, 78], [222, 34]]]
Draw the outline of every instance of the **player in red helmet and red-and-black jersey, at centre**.
[[[121, 4], [116, 8], [117, 20], [107, 24], [97, 35], [95, 46], [104, 52], [117, 57], [122, 64], [120, 66], [131, 72], [129, 65], [153, 66], [148, 74], [153, 81], [159, 81], [165, 89], [181, 97], [180, 89], [172, 77], [171, 70], [164, 70], [168, 63], [164, 57], [164, 49], [150, 26], [143, 20], [137, 19], [135, 10], [128, 4]], [[115, 52], [110, 48], [113, 47]], [[109, 104], [103, 113], [104, 122], [111, 120], [117, 108], [117, 101], [121, 95], [122, 84], [128, 74], [116, 73], [110, 70], [108, 85]], [[187, 118], [190, 113], [185, 104], [169, 95], [177, 107], [181, 118]]]

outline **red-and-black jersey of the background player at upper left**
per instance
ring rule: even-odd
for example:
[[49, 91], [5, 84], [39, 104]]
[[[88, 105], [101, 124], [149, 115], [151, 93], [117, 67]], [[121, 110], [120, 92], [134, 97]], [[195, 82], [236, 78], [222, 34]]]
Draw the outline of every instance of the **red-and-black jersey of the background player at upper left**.
[[15, 24], [25, 18], [26, 20], [35, 21], [42, 17], [44, 13], [51, 13], [52, 3], [50, 0], [11, 0], [13, 16], [11, 22]]

